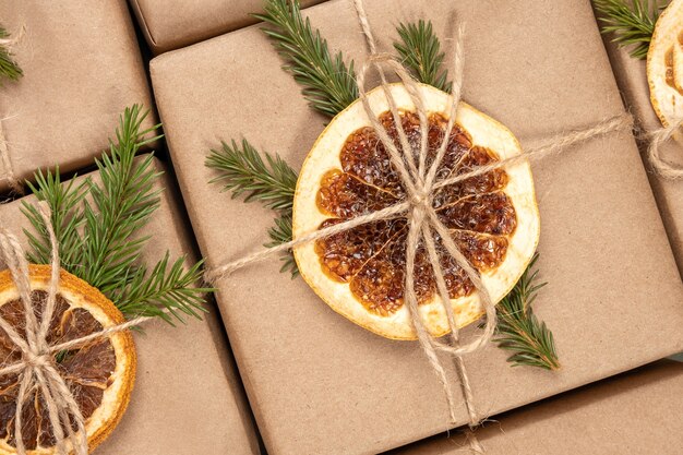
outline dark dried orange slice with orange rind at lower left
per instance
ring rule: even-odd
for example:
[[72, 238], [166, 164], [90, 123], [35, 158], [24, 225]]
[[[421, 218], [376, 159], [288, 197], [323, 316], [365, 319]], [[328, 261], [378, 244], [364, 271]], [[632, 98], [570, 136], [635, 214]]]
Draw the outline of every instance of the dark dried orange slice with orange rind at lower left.
[[[47, 301], [50, 267], [31, 265], [32, 300], [36, 315], [41, 314]], [[9, 271], [0, 272], [0, 315], [24, 335], [24, 306]], [[57, 306], [48, 344], [58, 345], [81, 338], [104, 327], [124, 322], [121, 312], [99, 290], [62, 271]], [[0, 357], [4, 364], [21, 359], [21, 354], [0, 330]], [[72, 392], [83, 417], [88, 446], [94, 450], [116, 428], [123, 416], [135, 380], [136, 356], [133, 337], [119, 332], [60, 352], [56, 366]], [[0, 454], [15, 454], [14, 416], [17, 375], [0, 378]], [[22, 409], [22, 434], [29, 454], [53, 454], [56, 441], [48, 412], [37, 387], [28, 391]], [[65, 429], [64, 429], [65, 430]], [[75, 424], [74, 424], [75, 430]]]

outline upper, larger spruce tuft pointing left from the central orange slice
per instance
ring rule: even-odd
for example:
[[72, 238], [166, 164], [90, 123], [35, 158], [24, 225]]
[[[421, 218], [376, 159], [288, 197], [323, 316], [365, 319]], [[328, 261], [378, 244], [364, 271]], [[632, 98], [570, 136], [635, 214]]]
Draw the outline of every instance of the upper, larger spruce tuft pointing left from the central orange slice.
[[244, 202], [260, 201], [274, 211], [290, 211], [297, 187], [297, 172], [279, 155], [264, 153], [265, 160], [249, 141], [241, 147], [232, 141], [212, 149], [206, 166], [219, 172], [209, 183], [224, 183], [232, 197], [247, 194]]

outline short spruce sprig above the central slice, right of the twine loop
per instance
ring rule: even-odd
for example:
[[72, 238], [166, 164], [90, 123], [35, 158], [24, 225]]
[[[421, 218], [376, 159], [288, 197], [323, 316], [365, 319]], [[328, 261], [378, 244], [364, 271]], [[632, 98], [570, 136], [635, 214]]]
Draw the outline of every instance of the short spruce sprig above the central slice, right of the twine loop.
[[441, 51], [439, 37], [434, 35], [432, 22], [419, 20], [418, 23], [398, 24], [396, 27], [400, 41], [394, 41], [394, 48], [404, 65], [423, 84], [450, 92], [448, 72], [442, 69], [445, 53]]

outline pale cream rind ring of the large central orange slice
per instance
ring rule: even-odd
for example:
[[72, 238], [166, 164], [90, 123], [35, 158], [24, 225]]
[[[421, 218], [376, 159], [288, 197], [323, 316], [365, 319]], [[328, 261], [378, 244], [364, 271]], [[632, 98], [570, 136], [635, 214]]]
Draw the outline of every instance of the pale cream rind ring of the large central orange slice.
[[[399, 111], [415, 111], [415, 106], [402, 84], [391, 84], [390, 89]], [[451, 96], [429, 85], [420, 84], [419, 89], [428, 113], [436, 113], [447, 119]], [[368, 99], [373, 112], [388, 110], [381, 87], [370, 92]], [[465, 103], [460, 103], [458, 107], [456, 125], [469, 133], [474, 146], [493, 151], [501, 159], [522, 153], [518, 141], [510, 130]], [[292, 219], [295, 239], [314, 231], [321, 224], [331, 219], [329, 213], [321, 209], [317, 204], [322, 182], [329, 172], [343, 168], [340, 151], [349, 135], [368, 127], [370, 122], [363, 106], [356, 101], [333, 119], [313, 145], [299, 175], [295, 194]], [[502, 263], [494, 270], [482, 272], [482, 280], [495, 302], [513, 288], [524, 273], [536, 251], [540, 232], [540, 218], [529, 164], [520, 161], [507, 165], [504, 170], [508, 178], [503, 191], [514, 206], [516, 228], [507, 239], [507, 251]], [[335, 279], [324, 271], [315, 242], [298, 246], [293, 253], [303, 279], [334, 311], [381, 336], [392, 339], [416, 338], [405, 306], [402, 304], [391, 314], [369, 311], [351, 291], [349, 283]], [[451, 304], [459, 327], [470, 324], [482, 314], [477, 291], [452, 299]], [[422, 302], [419, 309], [426, 327], [433, 336], [442, 336], [450, 332], [445, 310], [439, 297], [432, 296], [429, 301]]]

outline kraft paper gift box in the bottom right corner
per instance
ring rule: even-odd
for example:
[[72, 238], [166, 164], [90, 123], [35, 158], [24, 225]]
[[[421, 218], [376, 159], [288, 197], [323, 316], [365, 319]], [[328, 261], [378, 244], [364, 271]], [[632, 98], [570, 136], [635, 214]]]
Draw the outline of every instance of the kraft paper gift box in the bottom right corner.
[[[668, 454], [683, 446], [683, 364], [662, 360], [516, 409], [478, 432], [490, 455]], [[463, 435], [438, 436], [392, 455], [467, 454]], [[388, 454], [387, 454], [388, 455]]]

